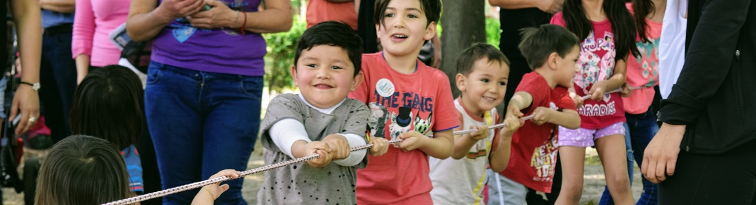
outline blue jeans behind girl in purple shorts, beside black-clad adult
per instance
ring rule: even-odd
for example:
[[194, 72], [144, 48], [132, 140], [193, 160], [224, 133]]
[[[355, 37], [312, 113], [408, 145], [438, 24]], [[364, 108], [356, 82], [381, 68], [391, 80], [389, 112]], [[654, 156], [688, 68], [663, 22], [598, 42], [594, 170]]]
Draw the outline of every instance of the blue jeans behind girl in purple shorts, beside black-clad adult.
[[[638, 163], [638, 167], [643, 164], [643, 151], [649, 145], [651, 139], [658, 132], [659, 127], [656, 124], [656, 115], [652, 108], [649, 108], [643, 114], [631, 115], [625, 113], [627, 123], [625, 126], [625, 142], [627, 143], [627, 168], [630, 174], [630, 182], [633, 182], [633, 160]], [[645, 176], [640, 176], [643, 182], [643, 193], [640, 194], [637, 204], [658, 204], [658, 185], [646, 180]], [[614, 204], [609, 189], [604, 187], [604, 193], [601, 195], [599, 204]]]

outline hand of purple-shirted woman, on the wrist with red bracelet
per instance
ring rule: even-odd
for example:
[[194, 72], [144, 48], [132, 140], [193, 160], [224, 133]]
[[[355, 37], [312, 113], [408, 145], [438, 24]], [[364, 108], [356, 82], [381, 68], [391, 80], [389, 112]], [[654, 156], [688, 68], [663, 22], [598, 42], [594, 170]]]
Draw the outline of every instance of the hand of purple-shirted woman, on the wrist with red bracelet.
[[187, 17], [192, 26], [200, 29], [241, 27], [243, 16], [240, 15], [240, 11], [233, 11], [223, 2], [216, 0], [206, 0], [205, 2], [212, 8]]

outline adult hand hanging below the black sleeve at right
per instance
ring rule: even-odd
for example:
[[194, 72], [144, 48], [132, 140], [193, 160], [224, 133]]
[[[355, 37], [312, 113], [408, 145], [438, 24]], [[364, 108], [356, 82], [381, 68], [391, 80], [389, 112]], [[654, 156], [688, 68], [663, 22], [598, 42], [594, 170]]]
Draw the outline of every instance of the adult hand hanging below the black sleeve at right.
[[658, 184], [664, 182], [667, 176], [674, 174], [685, 127], [685, 125], [662, 124], [658, 133], [649, 142], [643, 153], [643, 166], [640, 167], [640, 171], [650, 182]]

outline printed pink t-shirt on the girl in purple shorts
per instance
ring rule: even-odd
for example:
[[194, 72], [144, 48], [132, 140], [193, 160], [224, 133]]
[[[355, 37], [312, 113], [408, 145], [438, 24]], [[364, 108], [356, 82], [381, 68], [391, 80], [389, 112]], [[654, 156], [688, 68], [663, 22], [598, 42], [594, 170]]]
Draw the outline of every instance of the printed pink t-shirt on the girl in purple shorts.
[[[556, 13], [551, 18], [551, 23], [565, 26], [562, 12]], [[578, 96], [587, 95], [596, 82], [611, 78], [615, 69], [616, 52], [612, 23], [609, 22], [609, 18], [591, 23], [593, 30], [580, 43], [580, 71], [575, 75], [575, 93]], [[578, 108], [578, 113], [580, 127], [586, 129], [601, 129], [625, 121], [624, 105], [619, 93], [604, 95], [604, 99], [600, 100], [586, 99], [583, 106]]]

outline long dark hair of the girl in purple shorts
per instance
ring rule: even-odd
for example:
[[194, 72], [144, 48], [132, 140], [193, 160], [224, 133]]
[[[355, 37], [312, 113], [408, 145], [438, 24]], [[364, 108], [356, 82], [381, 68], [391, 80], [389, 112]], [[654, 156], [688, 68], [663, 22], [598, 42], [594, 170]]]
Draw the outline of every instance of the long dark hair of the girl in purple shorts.
[[[630, 11], [625, 8], [624, 2], [621, 0], [604, 0], [602, 7], [609, 23], [612, 23], [612, 31], [615, 35], [615, 50], [617, 51], [615, 60], [624, 59], [627, 54], [639, 57], [640, 51], [635, 45], [635, 23]], [[578, 38], [587, 38], [590, 31], [593, 30], [593, 24], [585, 15], [583, 1], [566, 0], [562, 14], [564, 15], [565, 26], [575, 35], [578, 35]]]

